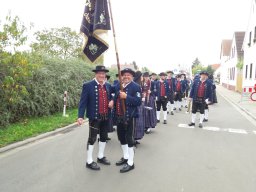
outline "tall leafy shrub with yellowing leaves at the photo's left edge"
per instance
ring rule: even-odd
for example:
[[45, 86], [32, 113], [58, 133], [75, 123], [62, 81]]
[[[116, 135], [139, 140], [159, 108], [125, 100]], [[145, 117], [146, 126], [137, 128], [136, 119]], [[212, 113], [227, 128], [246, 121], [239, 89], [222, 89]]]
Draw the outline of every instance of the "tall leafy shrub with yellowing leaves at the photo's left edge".
[[0, 29], [0, 125], [3, 125], [2, 122], [12, 118], [10, 111], [14, 106], [28, 95], [25, 83], [33, 66], [28, 62], [28, 54], [18, 51], [27, 40], [27, 28], [19, 17], [8, 15]]

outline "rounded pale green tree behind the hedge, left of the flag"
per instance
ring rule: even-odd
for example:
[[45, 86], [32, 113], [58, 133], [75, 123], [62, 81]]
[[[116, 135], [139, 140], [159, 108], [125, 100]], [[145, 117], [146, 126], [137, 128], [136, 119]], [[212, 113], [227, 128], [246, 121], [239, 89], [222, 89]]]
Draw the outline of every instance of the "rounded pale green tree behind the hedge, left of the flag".
[[63, 59], [81, 57], [83, 39], [68, 27], [37, 31], [32, 51]]

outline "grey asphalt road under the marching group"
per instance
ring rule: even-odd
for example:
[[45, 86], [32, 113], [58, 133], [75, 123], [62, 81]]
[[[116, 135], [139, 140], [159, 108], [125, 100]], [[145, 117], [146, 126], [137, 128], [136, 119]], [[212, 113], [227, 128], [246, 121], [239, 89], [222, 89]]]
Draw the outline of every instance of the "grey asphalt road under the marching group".
[[112, 165], [86, 169], [88, 125], [77, 127], [1, 154], [0, 192], [255, 192], [255, 122], [220, 96], [209, 120], [191, 129], [184, 110], [169, 115], [141, 141], [126, 174], [114, 165], [116, 133], [106, 148]]

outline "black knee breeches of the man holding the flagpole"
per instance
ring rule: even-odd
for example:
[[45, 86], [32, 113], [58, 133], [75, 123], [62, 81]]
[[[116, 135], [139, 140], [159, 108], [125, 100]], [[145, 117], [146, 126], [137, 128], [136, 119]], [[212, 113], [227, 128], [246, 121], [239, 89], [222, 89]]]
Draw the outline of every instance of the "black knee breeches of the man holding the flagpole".
[[117, 136], [121, 145], [134, 146], [134, 118], [129, 119], [127, 123], [124, 121], [117, 123]]

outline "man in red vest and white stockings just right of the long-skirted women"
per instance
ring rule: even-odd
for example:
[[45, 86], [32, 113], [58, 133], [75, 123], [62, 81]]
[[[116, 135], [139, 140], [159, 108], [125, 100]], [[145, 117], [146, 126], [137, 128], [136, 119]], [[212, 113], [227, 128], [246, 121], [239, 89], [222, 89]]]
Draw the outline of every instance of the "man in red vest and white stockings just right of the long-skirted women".
[[167, 124], [167, 103], [170, 95], [169, 84], [166, 81], [166, 73], [160, 73], [160, 80], [156, 83], [156, 116], [157, 122], [160, 122], [161, 107], [164, 112], [164, 124]]

